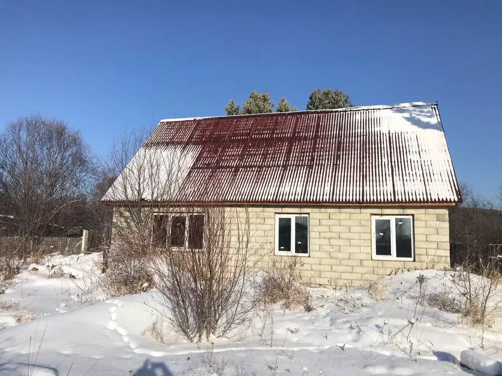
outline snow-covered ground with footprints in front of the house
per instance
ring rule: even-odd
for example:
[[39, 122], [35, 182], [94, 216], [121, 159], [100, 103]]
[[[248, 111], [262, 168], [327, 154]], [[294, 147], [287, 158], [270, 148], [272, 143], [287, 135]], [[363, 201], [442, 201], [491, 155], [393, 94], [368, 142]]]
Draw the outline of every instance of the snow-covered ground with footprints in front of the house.
[[[158, 292], [107, 300], [100, 257], [32, 264], [0, 295], [0, 375], [476, 374], [459, 365], [463, 350], [502, 359], [502, 325], [470, 327], [424, 298], [460, 299], [452, 272], [312, 289], [312, 312], [263, 309], [238, 335], [193, 344], [159, 319]], [[51, 266], [64, 275], [49, 278]]]

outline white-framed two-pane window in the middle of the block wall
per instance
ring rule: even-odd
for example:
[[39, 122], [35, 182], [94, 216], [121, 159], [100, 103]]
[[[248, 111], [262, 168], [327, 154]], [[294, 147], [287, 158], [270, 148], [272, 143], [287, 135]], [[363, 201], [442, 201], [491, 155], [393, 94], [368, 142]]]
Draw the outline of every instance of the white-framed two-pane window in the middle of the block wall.
[[276, 214], [275, 254], [309, 256], [308, 214]]

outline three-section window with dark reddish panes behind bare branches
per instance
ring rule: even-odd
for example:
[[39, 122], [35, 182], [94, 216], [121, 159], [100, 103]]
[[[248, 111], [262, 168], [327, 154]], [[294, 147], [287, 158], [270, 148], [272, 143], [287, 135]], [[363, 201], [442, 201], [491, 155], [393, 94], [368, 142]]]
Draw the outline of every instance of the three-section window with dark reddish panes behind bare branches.
[[159, 247], [202, 249], [204, 215], [176, 213], [156, 217]]

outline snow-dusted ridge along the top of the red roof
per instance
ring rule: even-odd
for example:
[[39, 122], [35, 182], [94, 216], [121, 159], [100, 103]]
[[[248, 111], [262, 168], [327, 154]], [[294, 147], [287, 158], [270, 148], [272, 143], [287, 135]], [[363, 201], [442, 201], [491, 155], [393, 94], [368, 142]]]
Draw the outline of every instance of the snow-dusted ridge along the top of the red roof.
[[188, 120], [202, 120], [202, 119], [216, 119], [220, 117], [224, 118], [239, 118], [239, 117], [253, 117], [253, 116], [280, 116], [286, 114], [301, 114], [301, 113], [313, 113], [313, 112], [348, 112], [348, 111], [358, 111], [358, 110], [383, 110], [388, 108], [407, 108], [407, 107], [420, 107], [420, 106], [437, 106], [438, 102], [405, 102], [398, 104], [378, 104], [378, 105], [370, 105], [370, 106], [354, 106], [354, 107], [343, 107], [343, 108], [332, 108], [327, 110], [302, 110], [302, 111], [289, 111], [289, 112], [267, 112], [262, 114], [239, 114], [239, 115], [217, 115], [217, 116], [194, 116], [194, 117], [179, 117], [179, 118], [170, 118], [170, 119], [162, 119], [159, 123], [167, 123], [171, 121], [188, 121]]

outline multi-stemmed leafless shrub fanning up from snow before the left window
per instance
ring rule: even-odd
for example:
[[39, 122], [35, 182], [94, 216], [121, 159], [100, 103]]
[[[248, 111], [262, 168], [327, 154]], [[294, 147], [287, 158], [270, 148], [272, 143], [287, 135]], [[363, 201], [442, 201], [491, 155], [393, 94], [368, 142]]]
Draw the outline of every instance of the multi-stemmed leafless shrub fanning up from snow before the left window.
[[[251, 242], [254, 226], [247, 210], [184, 211], [189, 224], [186, 242], [180, 241], [184, 231], [172, 229], [167, 241], [171, 246], [152, 257], [167, 319], [189, 341], [245, 331], [255, 310], [253, 281], [260, 249]], [[182, 222], [179, 215], [166, 217], [171, 227]]]

